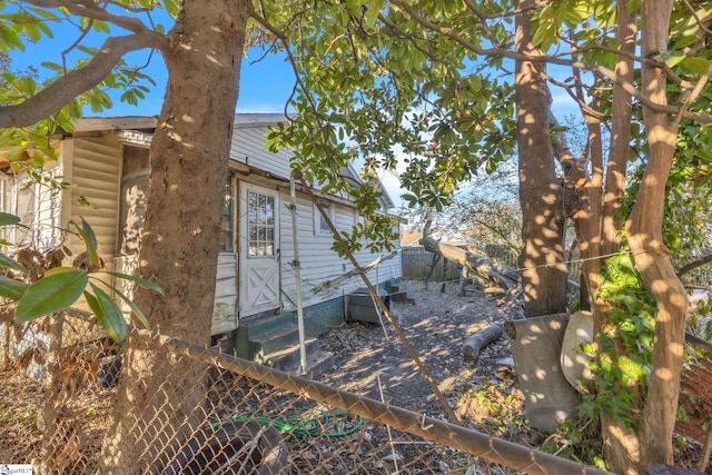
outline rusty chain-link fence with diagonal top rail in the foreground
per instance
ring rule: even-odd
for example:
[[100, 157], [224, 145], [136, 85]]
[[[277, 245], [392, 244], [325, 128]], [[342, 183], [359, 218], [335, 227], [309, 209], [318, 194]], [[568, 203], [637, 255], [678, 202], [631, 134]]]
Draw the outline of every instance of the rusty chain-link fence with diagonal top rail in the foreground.
[[34, 473], [603, 473], [175, 338], [2, 327], [0, 462]]

